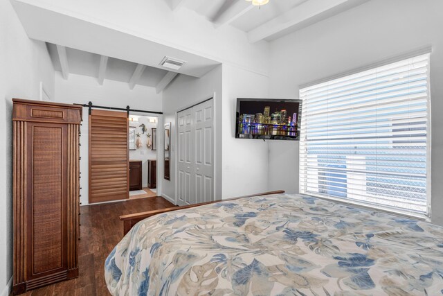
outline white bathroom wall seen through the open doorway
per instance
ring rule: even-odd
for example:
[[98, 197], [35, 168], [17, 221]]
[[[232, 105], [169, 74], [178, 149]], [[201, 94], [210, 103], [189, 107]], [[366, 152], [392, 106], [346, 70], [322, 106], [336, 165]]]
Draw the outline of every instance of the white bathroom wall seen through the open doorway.
[[[157, 123], [150, 123], [151, 119], [156, 119], [156, 117], [147, 117], [147, 116], [132, 116], [135, 117], [138, 122], [137, 123], [129, 123], [129, 126], [134, 126], [136, 128], [136, 133], [140, 134], [140, 139], [142, 146], [141, 148], [137, 148], [136, 150], [129, 150], [129, 159], [130, 160], [141, 160], [142, 163], [142, 184], [143, 187], [147, 187], [147, 160], [148, 159], [157, 159], [157, 151], [152, 150], [151, 148], [147, 148], [146, 143], [148, 138], [147, 134], [150, 134], [150, 139], [152, 139], [152, 128], [157, 128]], [[145, 134], [143, 134], [140, 125], [144, 124], [147, 128]]]

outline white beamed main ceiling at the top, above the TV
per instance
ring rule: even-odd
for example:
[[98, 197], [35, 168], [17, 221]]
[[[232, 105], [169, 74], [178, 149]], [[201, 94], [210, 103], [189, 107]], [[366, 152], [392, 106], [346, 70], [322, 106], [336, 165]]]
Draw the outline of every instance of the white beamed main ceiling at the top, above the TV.
[[253, 6], [244, 0], [164, 1], [170, 3], [172, 10], [181, 3], [213, 22], [215, 28], [229, 24], [244, 31], [253, 43], [275, 40], [369, 0], [269, 0], [264, 6]]

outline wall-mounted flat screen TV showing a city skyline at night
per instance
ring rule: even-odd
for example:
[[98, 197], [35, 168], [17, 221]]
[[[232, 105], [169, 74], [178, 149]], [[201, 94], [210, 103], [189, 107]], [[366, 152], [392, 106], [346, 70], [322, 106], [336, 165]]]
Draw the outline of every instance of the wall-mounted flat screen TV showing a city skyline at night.
[[238, 139], [300, 140], [302, 101], [237, 98]]

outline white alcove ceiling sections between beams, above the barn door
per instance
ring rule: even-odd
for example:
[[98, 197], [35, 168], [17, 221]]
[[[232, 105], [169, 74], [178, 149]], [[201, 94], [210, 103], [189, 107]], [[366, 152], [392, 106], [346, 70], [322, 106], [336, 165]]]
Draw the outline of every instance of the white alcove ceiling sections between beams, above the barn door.
[[[47, 43], [47, 46], [55, 71], [62, 72], [57, 46], [51, 43]], [[96, 53], [66, 47], [66, 60], [69, 65], [69, 73], [98, 78], [100, 57], [101, 55]], [[129, 83], [137, 65], [138, 64], [134, 62], [108, 58], [104, 79]], [[136, 85], [156, 87], [167, 73], [168, 71], [165, 69], [146, 66], [140, 78], [136, 81]]]

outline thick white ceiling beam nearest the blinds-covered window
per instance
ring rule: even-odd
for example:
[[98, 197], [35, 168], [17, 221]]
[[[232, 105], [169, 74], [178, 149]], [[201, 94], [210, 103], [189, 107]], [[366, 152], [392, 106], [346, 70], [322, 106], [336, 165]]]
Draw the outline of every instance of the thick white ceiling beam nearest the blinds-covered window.
[[309, 0], [248, 32], [251, 43], [296, 31], [369, 0]]

